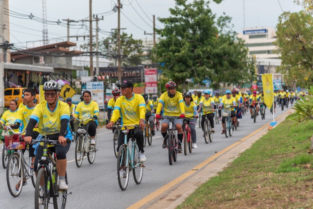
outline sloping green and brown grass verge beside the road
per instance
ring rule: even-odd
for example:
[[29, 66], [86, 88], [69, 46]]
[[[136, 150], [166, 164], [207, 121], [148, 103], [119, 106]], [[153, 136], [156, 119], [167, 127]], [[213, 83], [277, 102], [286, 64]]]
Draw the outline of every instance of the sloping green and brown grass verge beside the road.
[[177, 208], [313, 208], [312, 127], [283, 121]]

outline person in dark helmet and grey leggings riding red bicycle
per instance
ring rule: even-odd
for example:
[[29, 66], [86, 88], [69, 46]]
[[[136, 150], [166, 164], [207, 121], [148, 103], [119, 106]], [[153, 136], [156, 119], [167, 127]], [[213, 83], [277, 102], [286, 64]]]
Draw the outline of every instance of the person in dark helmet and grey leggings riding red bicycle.
[[[183, 95], [183, 100], [184, 100], [184, 108], [185, 108], [185, 117], [194, 117], [193, 119], [189, 120], [189, 126], [191, 130], [191, 140], [192, 140], [192, 148], [197, 148], [196, 145], [196, 131], [195, 131], [195, 118], [198, 117], [196, 114], [197, 109], [196, 109], [196, 104], [192, 102], [192, 97], [190, 92], [185, 92]], [[182, 126], [182, 129], [184, 130], [184, 125]]]

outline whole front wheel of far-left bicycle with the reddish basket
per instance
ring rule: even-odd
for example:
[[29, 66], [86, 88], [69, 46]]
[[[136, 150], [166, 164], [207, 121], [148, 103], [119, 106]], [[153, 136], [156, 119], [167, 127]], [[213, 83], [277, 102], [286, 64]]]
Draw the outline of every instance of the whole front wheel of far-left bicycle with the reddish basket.
[[6, 166], [6, 182], [12, 196], [20, 194], [23, 186], [23, 174], [23, 166], [19, 163], [19, 155], [16, 152], [10, 154]]

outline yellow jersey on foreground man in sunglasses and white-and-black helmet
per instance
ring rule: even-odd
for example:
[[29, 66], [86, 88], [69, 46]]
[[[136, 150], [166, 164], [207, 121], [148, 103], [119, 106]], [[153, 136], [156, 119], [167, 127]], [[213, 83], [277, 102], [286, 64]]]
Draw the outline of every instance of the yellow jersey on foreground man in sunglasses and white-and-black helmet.
[[[61, 119], [69, 120], [69, 108], [68, 104], [57, 100], [56, 106], [53, 111], [48, 107], [47, 101], [42, 101], [35, 106], [30, 116], [31, 119], [34, 119], [38, 123], [39, 133], [43, 136], [51, 135], [60, 132], [61, 128]], [[34, 130], [35, 128], [33, 128]], [[67, 123], [67, 133], [65, 138], [71, 139], [71, 132]]]

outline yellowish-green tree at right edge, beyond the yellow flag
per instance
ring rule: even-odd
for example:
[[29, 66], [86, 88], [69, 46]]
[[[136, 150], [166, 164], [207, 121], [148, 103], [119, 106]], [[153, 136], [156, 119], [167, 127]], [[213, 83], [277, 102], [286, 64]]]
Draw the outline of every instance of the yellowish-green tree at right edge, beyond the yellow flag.
[[313, 17], [305, 10], [284, 12], [276, 27], [275, 45], [281, 59], [276, 71], [288, 85], [309, 87], [313, 81]]

